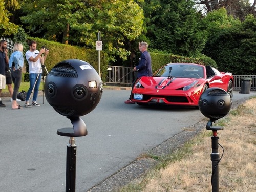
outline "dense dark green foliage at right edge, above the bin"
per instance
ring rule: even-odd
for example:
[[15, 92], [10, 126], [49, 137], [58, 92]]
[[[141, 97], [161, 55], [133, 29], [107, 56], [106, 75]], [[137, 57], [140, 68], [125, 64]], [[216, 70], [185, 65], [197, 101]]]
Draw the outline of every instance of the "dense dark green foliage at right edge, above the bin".
[[221, 71], [255, 75], [255, 46], [256, 18], [248, 15], [243, 22], [212, 33], [203, 53], [214, 59]]

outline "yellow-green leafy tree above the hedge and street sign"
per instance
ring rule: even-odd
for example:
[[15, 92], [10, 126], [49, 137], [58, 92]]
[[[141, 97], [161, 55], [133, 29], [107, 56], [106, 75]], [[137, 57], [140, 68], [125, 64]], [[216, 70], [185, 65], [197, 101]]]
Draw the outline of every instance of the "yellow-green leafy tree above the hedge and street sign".
[[29, 31], [44, 38], [94, 48], [100, 31], [110, 60], [127, 59], [125, 42], [143, 29], [143, 10], [132, 0], [25, 0], [23, 10]]

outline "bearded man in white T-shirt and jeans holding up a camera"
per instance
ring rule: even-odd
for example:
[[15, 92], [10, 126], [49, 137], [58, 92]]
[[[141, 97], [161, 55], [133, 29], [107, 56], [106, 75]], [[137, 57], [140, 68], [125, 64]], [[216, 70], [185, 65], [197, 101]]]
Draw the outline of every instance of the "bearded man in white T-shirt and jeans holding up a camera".
[[[27, 92], [26, 96], [26, 103], [25, 107], [29, 108], [32, 106], [40, 106], [37, 102], [37, 95], [39, 91], [39, 86], [41, 82], [41, 73], [42, 73], [42, 65], [41, 63], [44, 63], [47, 55], [49, 53], [49, 49], [41, 48], [40, 51], [36, 50], [36, 41], [32, 40], [29, 42], [29, 50], [25, 53], [26, 59], [29, 63], [29, 81], [30, 81], [30, 87]], [[42, 54], [45, 54], [44, 57], [42, 57]], [[44, 59], [44, 60], [43, 60]], [[29, 104], [29, 98], [34, 88], [34, 94], [32, 98], [32, 104]]]

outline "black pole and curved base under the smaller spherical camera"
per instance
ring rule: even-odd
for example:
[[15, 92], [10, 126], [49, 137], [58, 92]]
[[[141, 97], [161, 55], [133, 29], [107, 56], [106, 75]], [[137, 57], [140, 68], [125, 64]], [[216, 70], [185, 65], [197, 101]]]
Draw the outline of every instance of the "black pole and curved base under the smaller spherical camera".
[[223, 130], [221, 126], [212, 126], [212, 122], [215, 120], [209, 120], [206, 125], [206, 130], [212, 130], [211, 136], [211, 149], [212, 152], [210, 154], [211, 160], [211, 186], [212, 192], [219, 192], [219, 162], [220, 162], [220, 154], [218, 152], [219, 148], [219, 137], [217, 136], [218, 130]]

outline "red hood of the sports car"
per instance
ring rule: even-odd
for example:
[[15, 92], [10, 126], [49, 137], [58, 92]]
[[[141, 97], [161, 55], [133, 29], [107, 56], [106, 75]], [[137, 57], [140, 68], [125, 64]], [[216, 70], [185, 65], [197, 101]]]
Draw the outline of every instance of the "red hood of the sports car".
[[141, 77], [139, 79], [140, 84], [144, 88], [150, 89], [183, 89], [184, 86], [187, 86], [195, 81], [198, 81], [198, 84], [203, 83], [205, 79], [202, 78], [181, 78], [181, 77]]

